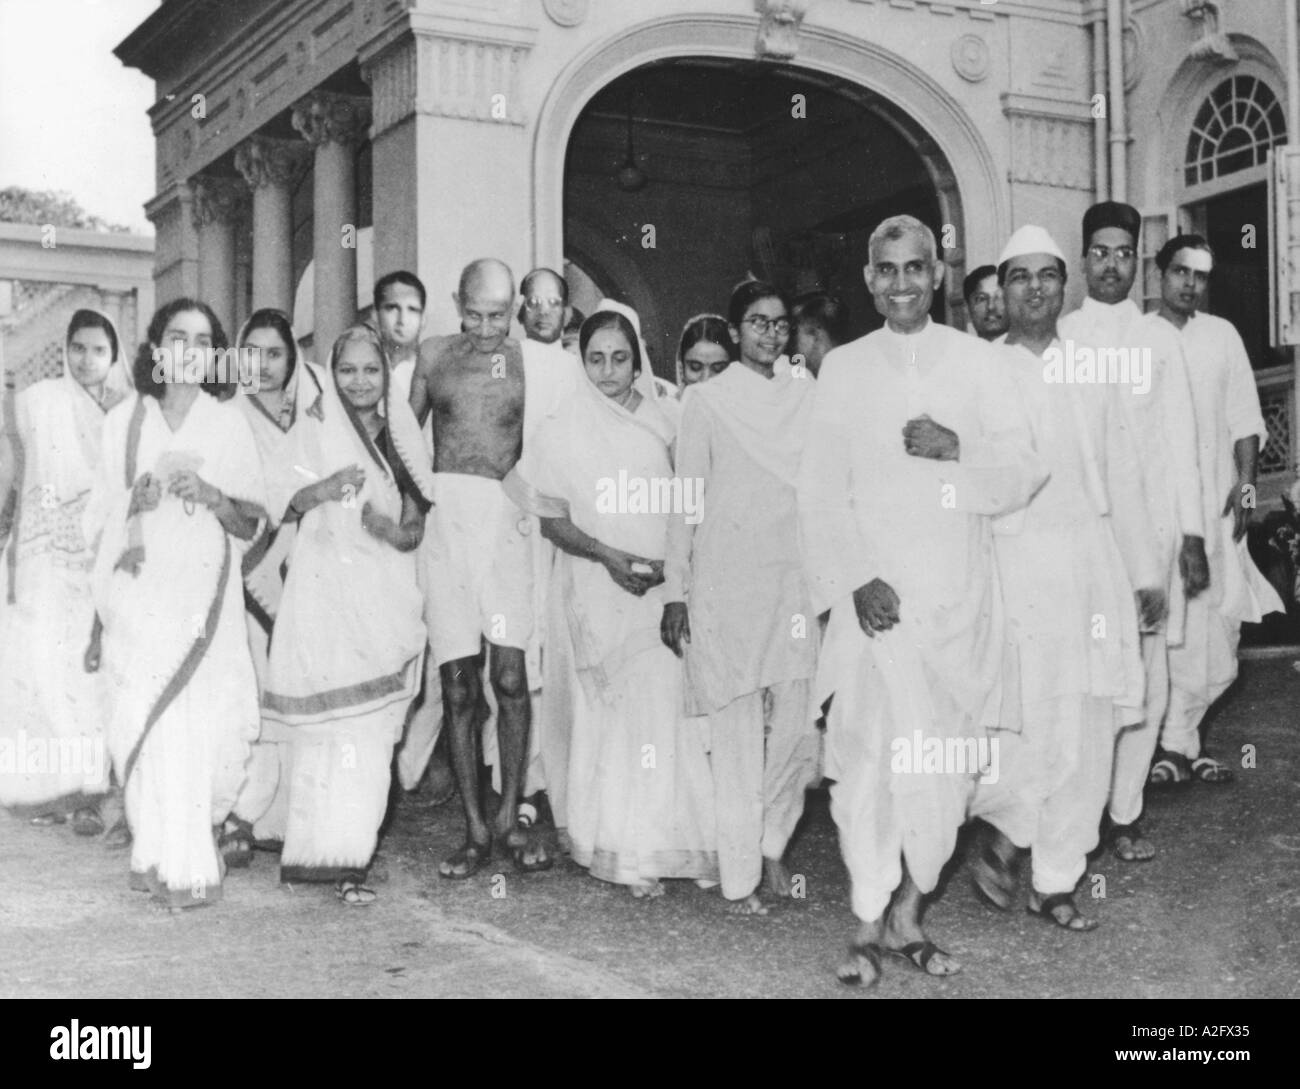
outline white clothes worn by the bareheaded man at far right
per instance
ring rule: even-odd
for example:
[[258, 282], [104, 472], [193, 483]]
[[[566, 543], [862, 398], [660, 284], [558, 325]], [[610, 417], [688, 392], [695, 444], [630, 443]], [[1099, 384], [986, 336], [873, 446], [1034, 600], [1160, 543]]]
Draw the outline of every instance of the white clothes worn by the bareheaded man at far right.
[[1284, 612], [1277, 591], [1260, 574], [1245, 539], [1232, 541], [1232, 517], [1222, 511], [1236, 483], [1232, 448], [1268, 429], [1242, 337], [1231, 322], [1197, 313], [1180, 333], [1187, 356], [1201, 469], [1201, 502], [1210, 586], [1188, 606], [1183, 646], [1170, 651], [1170, 700], [1161, 746], [1200, 755], [1197, 728], [1210, 704], [1236, 678], [1236, 647], [1243, 621]]

